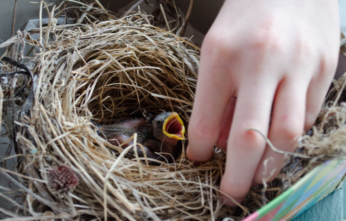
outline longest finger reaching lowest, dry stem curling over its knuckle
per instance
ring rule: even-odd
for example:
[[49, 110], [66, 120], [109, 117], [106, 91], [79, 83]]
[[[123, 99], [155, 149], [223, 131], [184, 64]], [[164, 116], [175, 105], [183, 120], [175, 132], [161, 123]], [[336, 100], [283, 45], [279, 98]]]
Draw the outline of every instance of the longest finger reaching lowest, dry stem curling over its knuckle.
[[[267, 79], [264, 75], [258, 76], [262, 78], [249, 79], [239, 89], [227, 143], [226, 168], [220, 185], [221, 191], [238, 202], [248, 193], [265, 149], [263, 137], [246, 128], [258, 128], [267, 134], [277, 85], [270, 75], [265, 75]], [[226, 201], [226, 204], [234, 205], [231, 201]]]

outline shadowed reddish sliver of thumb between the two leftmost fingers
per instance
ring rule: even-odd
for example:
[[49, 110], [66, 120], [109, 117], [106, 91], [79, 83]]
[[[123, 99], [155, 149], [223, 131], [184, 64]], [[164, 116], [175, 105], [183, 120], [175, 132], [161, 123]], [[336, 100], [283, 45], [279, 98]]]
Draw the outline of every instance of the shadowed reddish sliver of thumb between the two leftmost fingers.
[[229, 130], [231, 129], [231, 125], [232, 125], [235, 102], [236, 102], [235, 97], [231, 97], [231, 99], [228, 102], [226, 112], [223, 116], [223, 120], [221, 124], [220, 135], [216, 142], [216, 147], [218, 148], [227, 147], [227, 140], [228, 140]]

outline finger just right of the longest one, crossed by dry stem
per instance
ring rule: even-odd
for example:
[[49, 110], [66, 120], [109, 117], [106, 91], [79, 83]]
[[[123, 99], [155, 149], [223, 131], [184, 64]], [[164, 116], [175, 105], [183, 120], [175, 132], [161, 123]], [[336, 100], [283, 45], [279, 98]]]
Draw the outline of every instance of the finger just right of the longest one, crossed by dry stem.
[[[289, 79], [281, 81], [277, 88], [269, 139], [279, 150], [292, 152], [296, 146], [294, 139], [303, 134], [306, 84], [300, 79]], [[255, 173], [254, 183], [273, 180], [282, 168], [283, 158], [283, 154], [276, 153], [267, 146]]]

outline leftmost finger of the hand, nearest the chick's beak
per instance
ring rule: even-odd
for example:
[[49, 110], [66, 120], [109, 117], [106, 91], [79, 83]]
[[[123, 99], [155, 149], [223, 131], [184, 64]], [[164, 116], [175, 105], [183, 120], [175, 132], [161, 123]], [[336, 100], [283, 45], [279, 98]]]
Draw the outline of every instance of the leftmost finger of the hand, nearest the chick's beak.
[[215, 61], [215, 58], [220, 58], [215, 54], [217, 52], [209, 49], [208, 45], [207, 48], [202, 48], [202, 51], [199, 79], [188, 126], [189, 145], [186, 150], [188, 159], [196, 162], [206, 161], [213, 154], [234, 84], [232, 73]]

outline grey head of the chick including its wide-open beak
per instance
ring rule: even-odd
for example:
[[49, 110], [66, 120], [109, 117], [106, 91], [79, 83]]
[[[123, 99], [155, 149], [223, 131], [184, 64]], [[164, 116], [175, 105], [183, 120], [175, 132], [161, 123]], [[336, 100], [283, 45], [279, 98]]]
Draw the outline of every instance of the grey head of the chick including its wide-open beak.
[[155, 117], [152, 123], [154, 136], [161, 141], [176, 144], [184, 140], [185, 126], [176, 112], [164, 112]]

